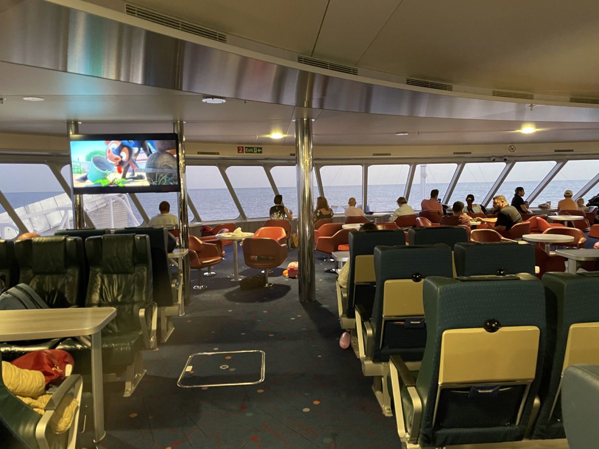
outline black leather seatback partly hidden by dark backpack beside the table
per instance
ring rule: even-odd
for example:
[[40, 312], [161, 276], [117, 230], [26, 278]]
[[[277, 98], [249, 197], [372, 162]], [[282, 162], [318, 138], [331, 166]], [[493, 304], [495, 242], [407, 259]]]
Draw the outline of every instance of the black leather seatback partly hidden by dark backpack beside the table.
[[83, 242], [79, 237], [35, 237], [15, 242], [19, 282], [28, 284], [51, 308], [83, 306]]

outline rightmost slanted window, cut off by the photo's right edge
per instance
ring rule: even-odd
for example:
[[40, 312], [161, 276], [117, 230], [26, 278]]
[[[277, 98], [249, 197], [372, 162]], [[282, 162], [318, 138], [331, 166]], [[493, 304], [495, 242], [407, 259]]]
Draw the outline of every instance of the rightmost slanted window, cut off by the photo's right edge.
[[[565, 163], [547, 186], [541, 190], [536, 203], [551, 201], [551, 207], [556, 207], [558, 201], [564, 199], [565, 190], [571, 190], [576, 201], [576, 193], [599, 173], [599, 160], [570, 160]], [[595, 196], [591, 190], [585, 198], [585, 203]]]

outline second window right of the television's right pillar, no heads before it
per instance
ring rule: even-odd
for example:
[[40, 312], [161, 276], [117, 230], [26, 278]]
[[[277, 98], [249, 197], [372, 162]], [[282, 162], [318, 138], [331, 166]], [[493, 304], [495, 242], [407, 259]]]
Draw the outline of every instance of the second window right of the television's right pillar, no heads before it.
[[228, 167], [226, 174], [246, 217], [249, 219], [268, 217], [268, 211], [273, 205], [274, 192], [264, 168], [261, 165], [238, 165]]

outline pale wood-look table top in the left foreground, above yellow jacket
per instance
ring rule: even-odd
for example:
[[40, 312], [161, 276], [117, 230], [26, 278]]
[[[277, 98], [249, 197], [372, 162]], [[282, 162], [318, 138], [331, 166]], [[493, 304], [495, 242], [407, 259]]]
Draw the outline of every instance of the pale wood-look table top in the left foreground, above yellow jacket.
[[116, 315], [114, 307], [0, 311], [0, 341], [92, 335]]

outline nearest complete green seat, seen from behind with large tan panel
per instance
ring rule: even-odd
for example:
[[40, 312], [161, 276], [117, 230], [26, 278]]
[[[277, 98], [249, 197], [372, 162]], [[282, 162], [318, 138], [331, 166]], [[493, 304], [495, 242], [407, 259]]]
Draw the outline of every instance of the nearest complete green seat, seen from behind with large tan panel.
[[[422, 413], [419, 415], [420, 423], [415, 429], [407, 427], [411, 430], [410, 441], [418, 441], [422, 447], [442, 447], [452, 444], [521, 440], [533, 408], [534, 396], [539, 389], [543, 368], [546, 325], [541, 282], [528, 274], [504, 277], [503, 280], [476, 281], [428, 277], [424, 281], [423, 302], [427, 326], [426, 347], [418, 379], [412, 384], [421, 403]], [[494, 321], [498, 321], [500, 326], [492, 326]], [[494, 333], [494, 329], [497, 328], [497, 333]], [[488, 336], [507, 335], [512, 331], [522, 332], [522, 329], [529, 332], [527, 335], [536, 336], [518, 340], [518, 347], [522, 341], [522, 346], [526, 346], [529, 351], [528, 354], [533, 351], [536, 356], [536, 359], [527, 359], [530, 376], [528, 383], [512, 382], [506, 385], [495, 380], [491, 385], [487, 384], [488, 387], [481, 387], [484, 384], [474, 380], [463, 383], [453, 380], [454, 385], [440, 386], [441, 347], [447, 335], [458, 332], [460, 336], [465, 335], [468, 342], [478, 343], [480, 340], [470, 339], [471, 335], [484, 337], [482, 341], [486, 344], [479, 345], [477, 353], [483, 351], [483, 354], [488, 354], [489, 359], [477, 358], [480, 365], [472, 361], [467, 366], [457, 363], [467, 377], [474, 376], [471, 374], [473, 371], [492, 369], [488, 368], [489, 366], [521, 366], [525, 361], [518, 357], [519, 353], [515, 351], [513, 344], [489, 344], [505, 340], [503, 337], [499, 340], [492, 337], [489, 340]], [[516, 335], [519, 337], [521, 333]], [[458, 345], [456, 352], [448, 350], [444, 357], [449, 358], [444, 360], [451, 360], [452, 354], [470, 354], [471, 351], [463, 345]], [[492, 359], [494, 353], [502, 354], [503, 358]], [[510, 357], [505, 357], [506, 354]], [[401, 363], [396, 363], [395, 359], [397, 357], [392, 357], [392, 363], [401, 371], [403, 362], [399, 360]], [[458, 359], [454, 357], [453, 360]], [[446, 365], [443, 365], [443, 368], [447, 370]], [[410, 381], [409, 377], [406, 378]], [[401, 396], [400, 390], [404, 391], [404, 396]], [[405, 408], [404, 418], [413, 414], [415, 409], [413, 399], [406, 397], [405, 392], [405, 388], [394, 387], [396, 411], [401, 416]], [[405, 401], [412, 402], [412, 405], [398, 410], [398, 404]], [[398, 423], [398, 430], [400, 427]]]

